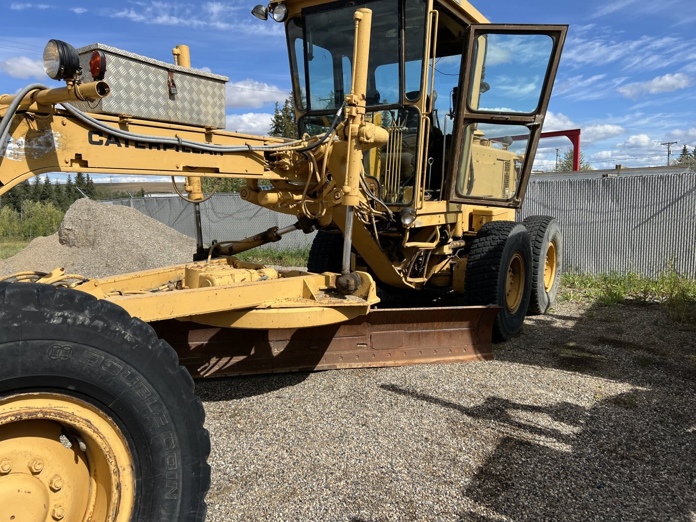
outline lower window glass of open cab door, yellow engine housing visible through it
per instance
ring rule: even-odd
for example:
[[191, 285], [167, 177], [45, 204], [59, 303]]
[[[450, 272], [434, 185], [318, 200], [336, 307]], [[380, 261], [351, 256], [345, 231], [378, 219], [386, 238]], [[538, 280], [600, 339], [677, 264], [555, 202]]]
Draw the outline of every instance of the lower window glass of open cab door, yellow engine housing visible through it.
[[527, 151], [528, 127], [471, 123], [464, 129], [462, 139], [457, 194], [512, 199]]

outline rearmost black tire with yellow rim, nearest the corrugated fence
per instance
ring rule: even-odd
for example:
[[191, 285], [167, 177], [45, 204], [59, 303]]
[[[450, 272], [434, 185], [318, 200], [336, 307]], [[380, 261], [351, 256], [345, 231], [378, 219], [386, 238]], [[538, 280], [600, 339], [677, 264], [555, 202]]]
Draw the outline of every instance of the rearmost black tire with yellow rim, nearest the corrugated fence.
[[529, 216], [522, 224], [532, 242], [532, 295], [527, 315], [543, 315], [558, 293], [563, 262], [563, 237], [551, 216]]

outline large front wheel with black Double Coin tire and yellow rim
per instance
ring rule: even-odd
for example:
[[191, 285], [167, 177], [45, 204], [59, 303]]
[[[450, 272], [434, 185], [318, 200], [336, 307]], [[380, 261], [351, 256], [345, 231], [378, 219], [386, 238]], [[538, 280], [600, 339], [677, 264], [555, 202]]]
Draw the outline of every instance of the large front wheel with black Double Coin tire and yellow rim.
[[[96, 509], [93, 522], [205, 519], [210, 485], [205, 411], [175, 351], [148, 324], [78, 290], [35, 283], [0, 284], [0, 324], [0, 446], [8, 444], [0, 457], [22, 447], [43, 467], [26, 478], [24, 457], [16, 454], [0, 495], [14, 494], [13, 481], [38, 479], [43, 487], [37, 481], [34, 485], [38, 495], [48, 496], [47, 509], [62, 505], [66, 519], [81, 520], [81, 513], [93, 507], [90, 503], [99, 502], [111, 506], [111, 515], [100, 516]], [[34, 420], [10, 418], [17, 404], [24, 404]], [[56, 405], [54, 417], [42, 418], [51, 411], [50, 404]], [[61, 418], [63, 410], [76, 422]], [[95, 474], [106, 480], [97, 480], [96, 488], [89, 480], [79, 480], [101, 458], [93, 444], [99, 436], [83, 431], [77, 422], [90, 416], [113, 427], [104, 436], [106, 450], [113, 446], [121, 458], [118, 466], [111, 463], [109, 473]], [[41, 450], [35, 441], [46, 441], [54, 449]], [[73, 464], [84, 461], [86, 471], [71, 475], [61, 468], [63, 452]], [[101, 461], [109, 465], [108, 458]], [[57, 475], [65, 483], [58, 491], [47, 482]], [[109, 482], [110, 476], [116, 479]], [[122, 477], [127, 480], [122, 482]], [[96, 500], [70, 496], [84, 489], [93, 491]], [[113, 514], [114, 506], [120, 514]], [[14, 518], [7, 509], [14, 508], [0, 505], [0, 519]]]

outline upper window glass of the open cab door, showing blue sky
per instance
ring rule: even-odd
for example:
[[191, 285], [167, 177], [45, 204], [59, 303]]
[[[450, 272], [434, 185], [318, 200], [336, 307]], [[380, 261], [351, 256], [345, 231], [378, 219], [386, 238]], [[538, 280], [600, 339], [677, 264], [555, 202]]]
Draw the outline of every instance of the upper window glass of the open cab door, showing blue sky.
[[552, 51], [553, 39], [549, 35], [481, 35], [473, 54], [470, 109], [536, 112]]

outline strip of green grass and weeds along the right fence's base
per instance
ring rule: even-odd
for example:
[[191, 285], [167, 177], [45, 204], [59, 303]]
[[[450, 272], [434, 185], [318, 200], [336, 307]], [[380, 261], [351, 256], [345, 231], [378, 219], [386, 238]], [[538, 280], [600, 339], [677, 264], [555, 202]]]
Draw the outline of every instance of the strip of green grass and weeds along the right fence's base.
[[569, 272], [561, 276], [559, 297], [564, 301], [592, 301], [601, 306], [627, 300], [659, 303], [675, 321], [696, 322], [696, 280], [678, 274], [671, 267], [655, 278], [633, 272], [597, 275]]

